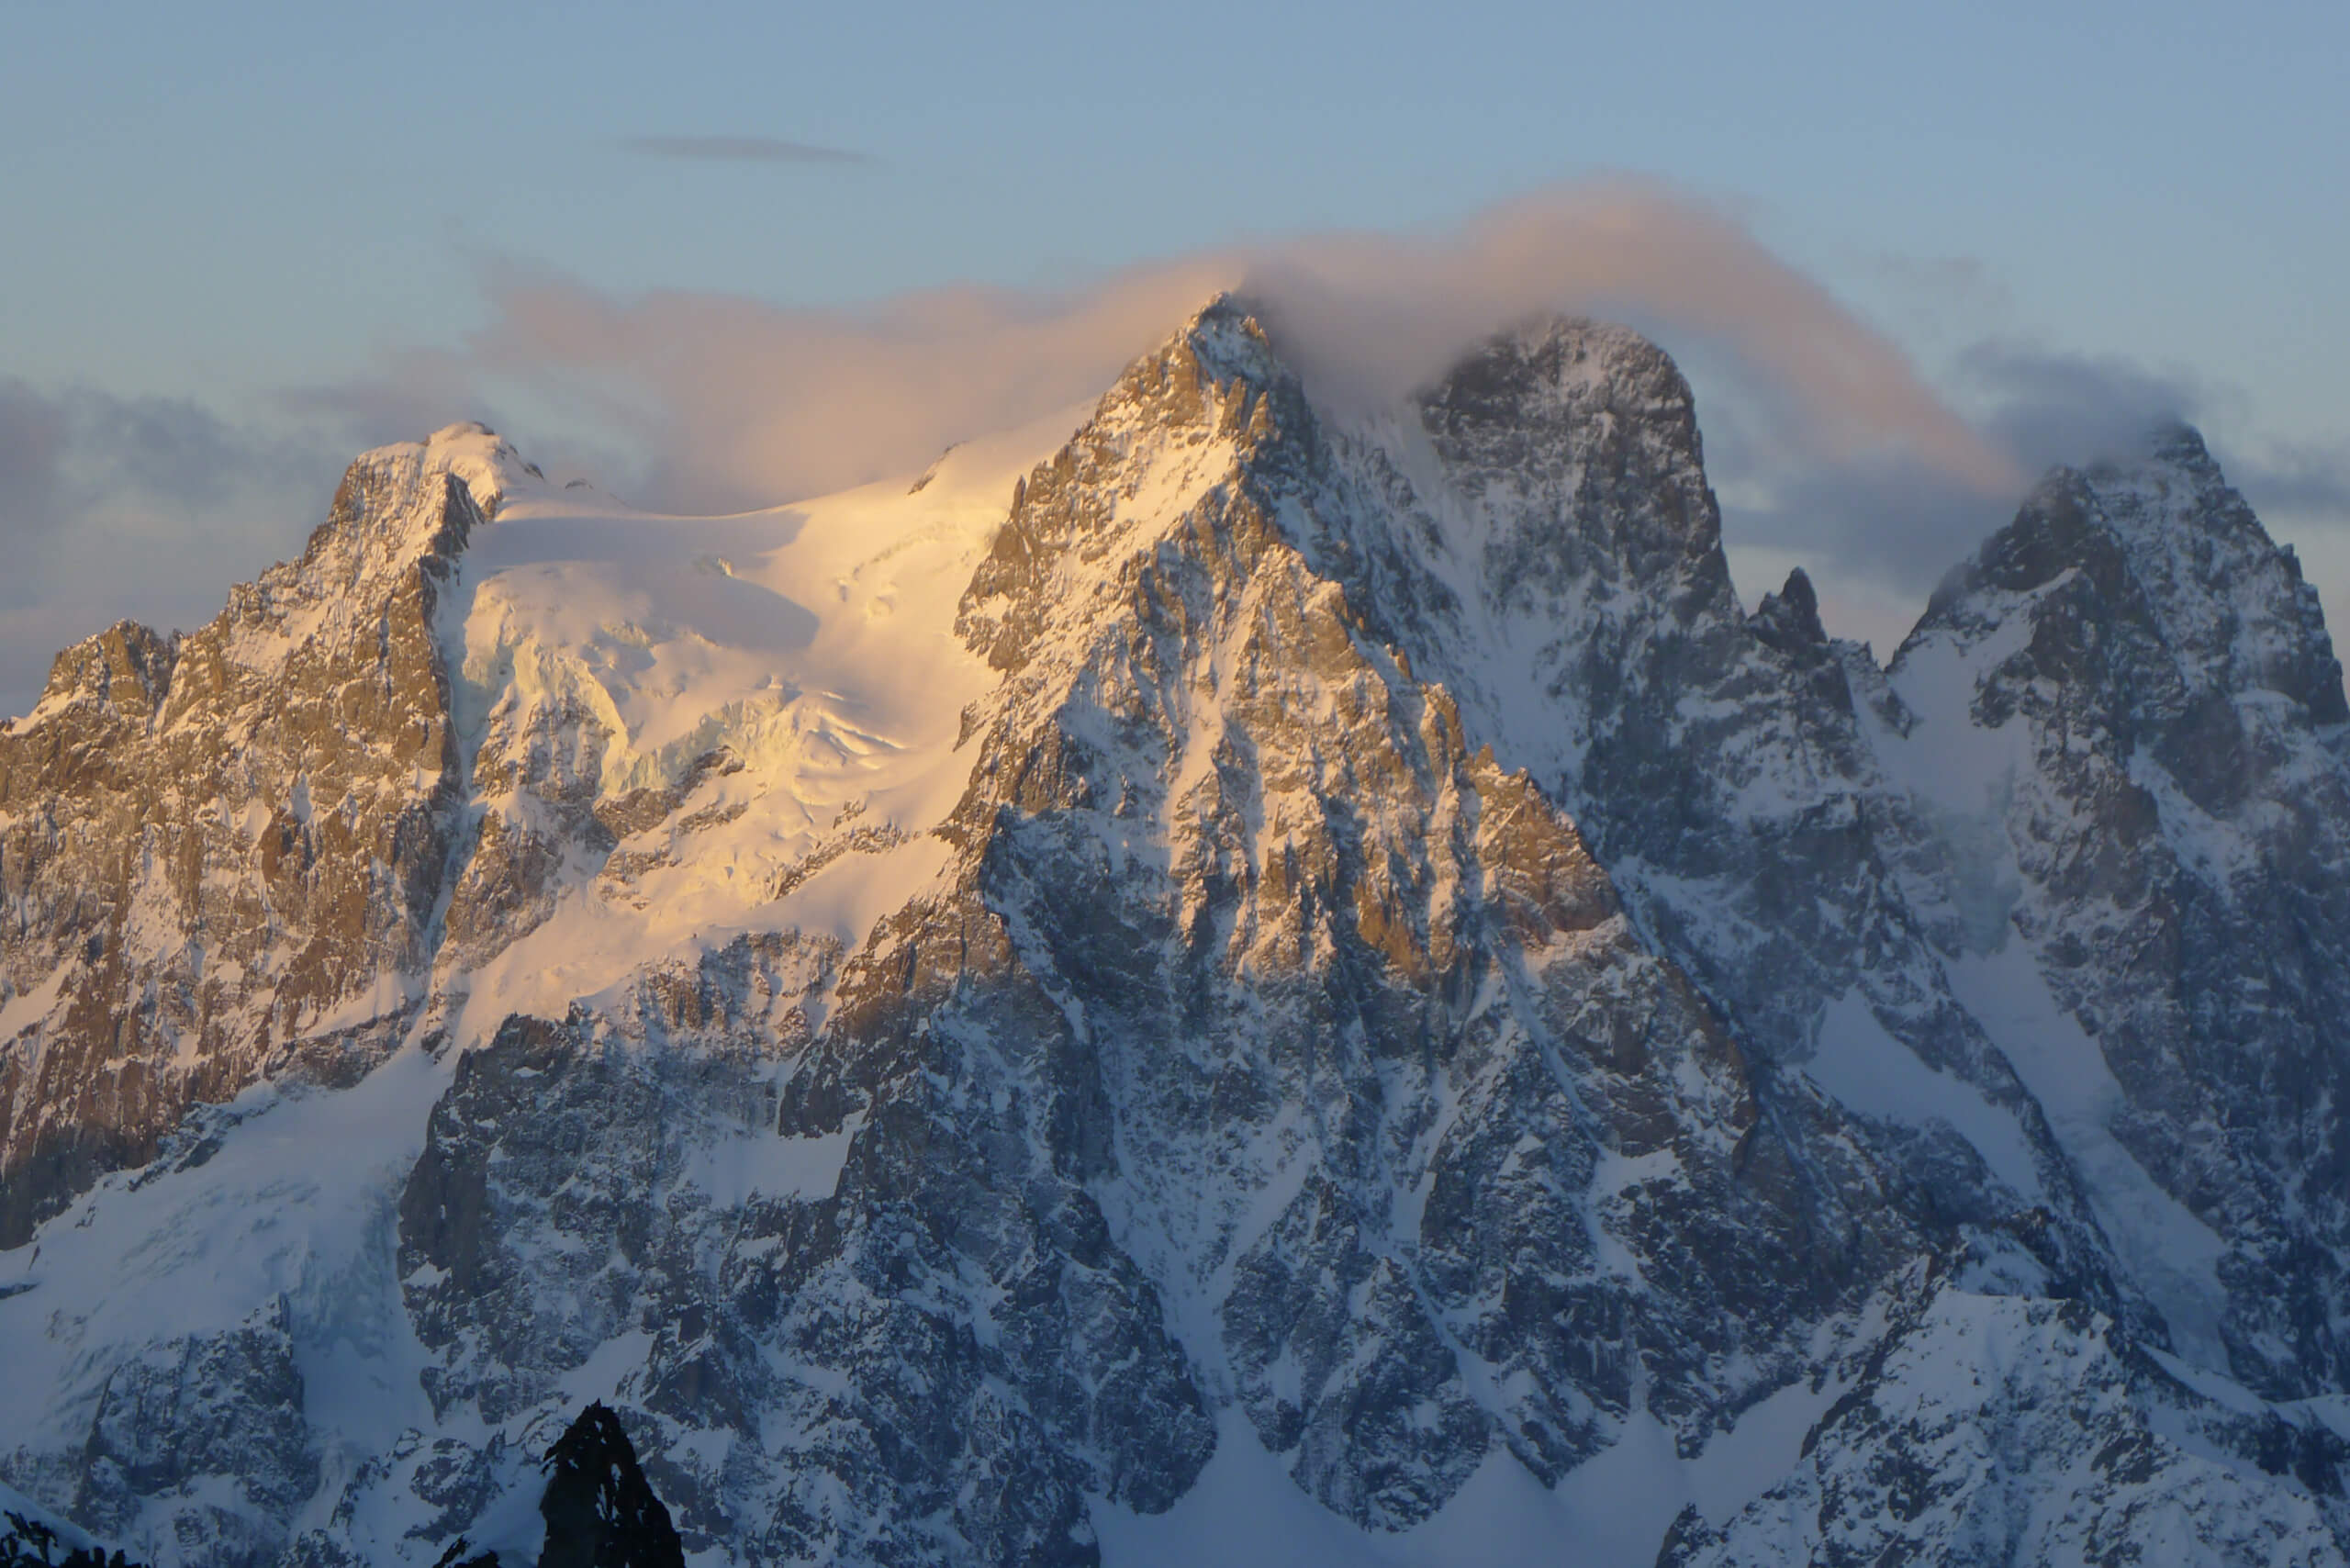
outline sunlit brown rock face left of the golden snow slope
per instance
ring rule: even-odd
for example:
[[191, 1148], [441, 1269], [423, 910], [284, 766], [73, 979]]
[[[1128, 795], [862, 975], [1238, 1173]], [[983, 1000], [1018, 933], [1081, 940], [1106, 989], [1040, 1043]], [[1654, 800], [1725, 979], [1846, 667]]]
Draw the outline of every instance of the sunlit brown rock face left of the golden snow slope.
[[463, 837], [444, 597], [501, 461], [369, 454], [298, 562], [190, 637], [66, 649], [0, 731], [0, 983], [45, 999], [0, 1056], [0, 1244], [193, 1105], [397, 1041]]

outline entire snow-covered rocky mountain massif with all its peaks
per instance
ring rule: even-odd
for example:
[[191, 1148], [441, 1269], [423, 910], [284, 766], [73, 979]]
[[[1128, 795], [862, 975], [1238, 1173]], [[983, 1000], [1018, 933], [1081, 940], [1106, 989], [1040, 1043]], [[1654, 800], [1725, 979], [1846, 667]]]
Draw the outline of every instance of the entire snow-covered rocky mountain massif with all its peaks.
[[651, 517], [479, 428], [0, 731], [0, 1483], [157, 1563], [2341, 1563], [2350, 712], [2186, 430], [1889, 668], [1690, 390]]

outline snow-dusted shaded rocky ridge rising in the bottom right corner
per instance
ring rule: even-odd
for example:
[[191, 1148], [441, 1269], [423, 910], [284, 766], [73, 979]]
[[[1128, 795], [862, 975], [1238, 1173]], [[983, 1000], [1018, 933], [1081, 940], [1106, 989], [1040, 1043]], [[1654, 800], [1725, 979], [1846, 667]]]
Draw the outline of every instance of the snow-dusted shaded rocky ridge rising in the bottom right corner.
[[2343, 1561], [2336, 1432], [2197, 1394], [2080, 1300], [1929, 1291], [1805, 1448], [1659, 1568]]

